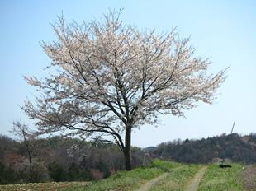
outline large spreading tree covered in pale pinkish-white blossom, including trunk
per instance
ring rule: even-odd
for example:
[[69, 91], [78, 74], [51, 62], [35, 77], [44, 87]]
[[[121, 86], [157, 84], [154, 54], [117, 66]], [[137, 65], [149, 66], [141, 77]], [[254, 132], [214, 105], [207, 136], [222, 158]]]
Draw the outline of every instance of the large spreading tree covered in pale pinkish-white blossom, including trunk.
[[159, 35], [124, 26], [119, 12], [102, 21], [53, 25], [57, 40], [43, 43], [58, 74], [26, 77], [42, 95], [22, 109], [41, 133], [67, 133], [115, 142], [130, 170], [131, 131], [157, 123], [159, 114], [183, 116], [198, 101], [211, 104], [225, 71], [207, 75], [177, 30]]

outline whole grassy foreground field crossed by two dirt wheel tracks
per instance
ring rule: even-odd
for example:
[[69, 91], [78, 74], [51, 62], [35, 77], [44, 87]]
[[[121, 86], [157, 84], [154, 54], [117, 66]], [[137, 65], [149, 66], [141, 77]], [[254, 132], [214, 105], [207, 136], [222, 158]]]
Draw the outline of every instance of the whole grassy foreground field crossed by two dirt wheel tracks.
[[[201, 181], [197, 189], [198, 191], [256, 190], [256, 184], [254, 183], [256, 180], [256, 175], [254, 175], [256, 167], [254, 165], [250, 167], [245, 166], [244, 168], [244, 165], [232, 164], [232, 168], [225, 169], [220, 169], [217, 164], [207, 165], [204, 168], [202, 168], [202, 166], [203, 165], [183, 165], [175, 162], [154, 160], [151, 165], [145, 168], [137, 168], [129, 172], [117, 172], [115, 175], [111, 175], [111, 177], [99, 181], [0, 185], [0, 191], [132, 191], [143, 188], [147, 183], [149, 187], [143, 190], [182, 191], [190, 190], [187, 189], [187, 185], [190, 185], [193, 180], [195, 180], [195, 177], [198, 176], [198, 170], [202, 171], [202, 169], [205, 174], [201, 173], [202, 178], [200, 178]], [[157, 179], [158, 181], [152, 181], [152, 179]], [[154, 184], [151, 184], [152, 182], [154, 182]], [[197, 183], [198, 182], [199, 181], [197, 181]]]

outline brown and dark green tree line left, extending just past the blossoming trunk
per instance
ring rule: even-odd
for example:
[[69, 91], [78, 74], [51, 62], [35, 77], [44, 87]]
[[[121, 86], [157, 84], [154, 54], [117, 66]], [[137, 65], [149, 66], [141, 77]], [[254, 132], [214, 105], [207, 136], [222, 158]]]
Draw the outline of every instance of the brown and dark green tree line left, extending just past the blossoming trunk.
[[[0, 184], [96, 180], [125, 170], [124, 158], [113, 144], [47, 137], [31, 139], [27, 145], [0, 135]], [[140, 148], [131, 151], [133, 167], [148, 163]]]

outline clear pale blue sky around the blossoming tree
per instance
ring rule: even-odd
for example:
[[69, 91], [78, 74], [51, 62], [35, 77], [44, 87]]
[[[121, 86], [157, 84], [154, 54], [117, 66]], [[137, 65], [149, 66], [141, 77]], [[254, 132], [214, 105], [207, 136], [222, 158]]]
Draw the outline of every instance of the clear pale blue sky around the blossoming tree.
[[169, 31], [191, 36], [196, 54], [210, 58], [209, 72], [230, 66], [228, 78], [213, 105], [198, 105], [186, 119], [160, 116], [157, 127], [145, 125], [132, 137], [132, 145], [155, 146], [181, 138], [256, 132], [256, 1], [14, 1], [0, 2], [0, 133], [11, 135], [12, 120], [31, 123], [18, 105], [36, 90], [23, 75], [42, 77], [50, 59], [40, 41], [55, 39], [50, 23], [64, 12], [68, 21], [91, 21], [123, 7], [125, 24], [141, 30]]

